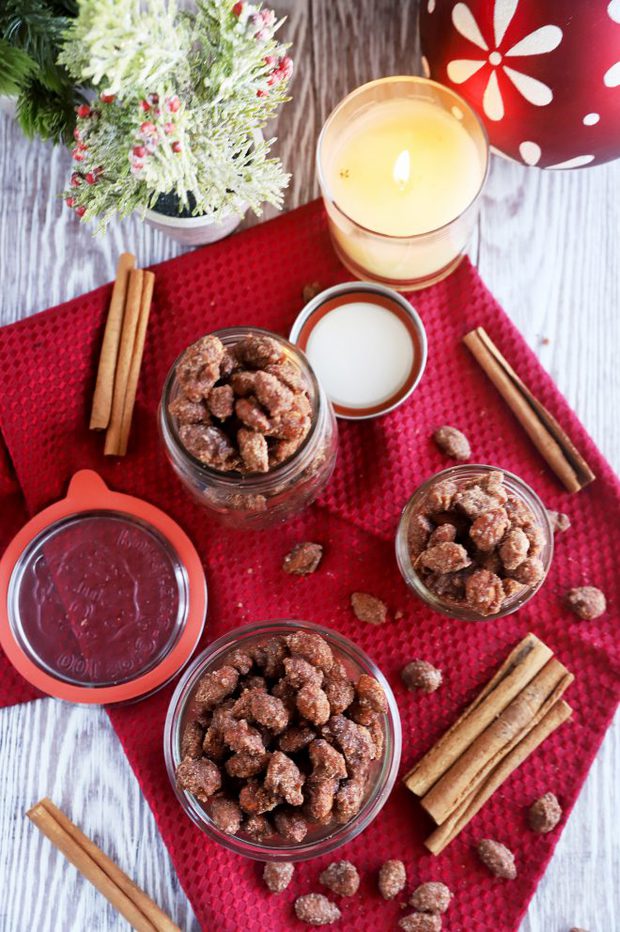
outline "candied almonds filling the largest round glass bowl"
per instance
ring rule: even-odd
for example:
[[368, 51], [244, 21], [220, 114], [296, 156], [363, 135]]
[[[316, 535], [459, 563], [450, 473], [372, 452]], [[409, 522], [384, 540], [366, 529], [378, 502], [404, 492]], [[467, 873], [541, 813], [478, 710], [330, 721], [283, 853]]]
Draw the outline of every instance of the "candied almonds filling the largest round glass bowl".
[[198, 682], [177, 785], [227, 834], [299, 843], [359, 811], [386, 711], [377, 680], [352, 680], [313, 632], [233, 650]]

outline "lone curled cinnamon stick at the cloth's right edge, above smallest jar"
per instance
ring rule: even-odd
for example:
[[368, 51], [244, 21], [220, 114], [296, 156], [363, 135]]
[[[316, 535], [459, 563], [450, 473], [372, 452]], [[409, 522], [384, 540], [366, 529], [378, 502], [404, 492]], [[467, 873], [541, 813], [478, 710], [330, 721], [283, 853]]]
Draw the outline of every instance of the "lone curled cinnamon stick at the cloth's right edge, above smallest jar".
[[570, 437], [504, 359], [484, 328], [471, 330], [463, 343], [565, 488], [578, 492], [592, 482], [595, 475]]

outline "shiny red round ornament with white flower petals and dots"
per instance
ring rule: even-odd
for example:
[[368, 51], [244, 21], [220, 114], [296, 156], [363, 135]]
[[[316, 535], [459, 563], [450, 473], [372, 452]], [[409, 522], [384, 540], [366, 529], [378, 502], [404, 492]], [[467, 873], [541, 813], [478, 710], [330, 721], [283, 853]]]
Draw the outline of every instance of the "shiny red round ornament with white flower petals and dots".
[[422, 0], [422, 65], [539, 168], [620, 157], [620, 0]]

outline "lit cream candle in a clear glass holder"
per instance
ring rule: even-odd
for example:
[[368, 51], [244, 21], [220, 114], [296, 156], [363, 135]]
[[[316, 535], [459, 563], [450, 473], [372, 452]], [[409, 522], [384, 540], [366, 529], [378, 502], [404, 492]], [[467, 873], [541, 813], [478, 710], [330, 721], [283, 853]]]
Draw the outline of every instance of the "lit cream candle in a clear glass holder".
[[334, 248], [357, 278], [401, 291], [461, 261], [489, 165], [486, 130], [426, 78], [371, 81], [323, 126], [317, 172]]

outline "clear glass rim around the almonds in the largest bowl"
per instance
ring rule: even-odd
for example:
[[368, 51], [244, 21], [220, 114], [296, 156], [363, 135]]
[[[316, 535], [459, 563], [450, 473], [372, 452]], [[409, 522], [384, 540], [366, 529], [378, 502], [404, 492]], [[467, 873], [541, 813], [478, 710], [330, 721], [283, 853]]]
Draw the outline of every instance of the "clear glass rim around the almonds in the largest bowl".
[[[240, 642], [257, 636], [269, 636], [292, 632], [297, 630], [312, 631], [323, 637], [332, 649], [339, 654], [345, 654], [360, 667], [363, 672], [374, 676], [381, 684], [388, 703], [388, 712], [385, 714], [385, 744], [381, 769], [376, 775], [375, 784], [359, 812], [344, 825], [339, 825], [332, 832], [322, 838], [309, 842], [284, 845], [262, 845], [238, 835], [228, 835], [222, 832], [209, 818], [208, 813], [192, 797], [191, 794], [180, 790], [176, 785], [175, 767], [180, 762], [180, 726], [183, 713], [191, 700], [195, 686], [205, 670], [229, 651], [239, 646]], [[189, 667], [185, 669], [170, 700], [166, 721], [164, 725], [164, 757], [168, 777], [173, 791], [184, 812], [209, 837], [219, 842], [225, 848], [242, 854], [245, 857], [260, 861], [305, 861], [334, 851], [341, 845], [351, 841], [364, 831], [379, 814], [387, 801], [396, 782], [400, 757], [402, 751], [402, 730], [396, 699], [385, 675], [375, 662], [360, 648], [332, 628], [318, 625], [309, 621], [294, 619], [272, 619], [242, 625], [228, 631], [213, 641]]]

